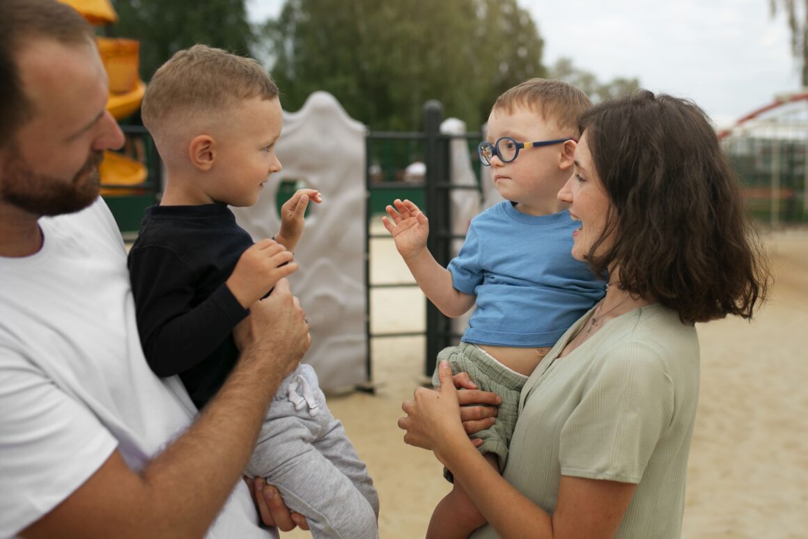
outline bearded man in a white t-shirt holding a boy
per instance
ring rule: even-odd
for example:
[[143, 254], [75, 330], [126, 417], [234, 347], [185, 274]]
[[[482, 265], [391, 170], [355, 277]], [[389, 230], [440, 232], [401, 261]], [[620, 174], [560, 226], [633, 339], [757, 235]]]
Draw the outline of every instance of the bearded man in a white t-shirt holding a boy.
[[303, 311], [285, 280], [252, 305], [238, 366], [194, 420], [143, 358], [98, 197], [103, 150], [123, 143], [106, 102], [72, 8], [0, 2], [0, 537], [266, 537], [239, 479], [309, 346]]

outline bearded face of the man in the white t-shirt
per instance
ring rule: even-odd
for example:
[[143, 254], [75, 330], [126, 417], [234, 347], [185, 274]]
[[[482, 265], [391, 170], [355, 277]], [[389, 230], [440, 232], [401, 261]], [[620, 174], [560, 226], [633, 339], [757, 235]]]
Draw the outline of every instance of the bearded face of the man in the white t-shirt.
[[0, 149], [0, 204], [36, 216], [85, 208], [99, 194], [103, 150], [123, 144], [95, 45], [32, 40], [17, 63], [34, 112]]

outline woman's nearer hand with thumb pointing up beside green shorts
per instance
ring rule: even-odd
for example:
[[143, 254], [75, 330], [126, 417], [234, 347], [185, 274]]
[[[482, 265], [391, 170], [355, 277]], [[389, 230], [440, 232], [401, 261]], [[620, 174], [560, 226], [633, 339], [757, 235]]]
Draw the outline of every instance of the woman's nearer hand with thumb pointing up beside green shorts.
[[398, 419], [398, 427], [406, 431], [406, 444], [431, 449], [443, 461], [442, 448], [458, 439], [468, 440], [468, 437], [461, 423], [460, 400], [448, 362], [440, 362], [438, 376], [440, 387], [437, 390], [419, 387], [413, 400], [402, 404], [406, 417]]

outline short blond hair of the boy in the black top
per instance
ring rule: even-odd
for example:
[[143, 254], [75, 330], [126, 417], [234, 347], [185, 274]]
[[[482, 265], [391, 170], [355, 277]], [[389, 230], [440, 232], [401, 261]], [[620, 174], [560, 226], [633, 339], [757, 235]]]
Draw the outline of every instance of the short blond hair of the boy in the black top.
[[143, 124], [153, 135], [166, 124], [182, 125], [213, 115], [244, 99], [274, 99], [278, 86], [252, 58], [221, 48], [194, 45], [175, 53], [154, 73], [141, 106]]

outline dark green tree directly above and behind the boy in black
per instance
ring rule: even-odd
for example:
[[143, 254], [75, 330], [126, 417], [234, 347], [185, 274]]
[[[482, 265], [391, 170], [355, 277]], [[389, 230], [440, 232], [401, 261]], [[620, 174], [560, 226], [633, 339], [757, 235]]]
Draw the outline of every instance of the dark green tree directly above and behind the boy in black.
[[245, 55], [255, 40], [244, 0], [113, 0], [112, 4], [119, 21], [107, 32], [140, 41], [145, 80], [180, 49], [204, 43]]

